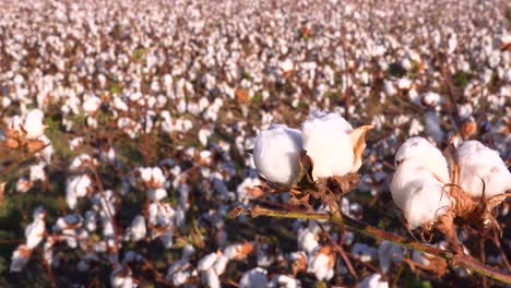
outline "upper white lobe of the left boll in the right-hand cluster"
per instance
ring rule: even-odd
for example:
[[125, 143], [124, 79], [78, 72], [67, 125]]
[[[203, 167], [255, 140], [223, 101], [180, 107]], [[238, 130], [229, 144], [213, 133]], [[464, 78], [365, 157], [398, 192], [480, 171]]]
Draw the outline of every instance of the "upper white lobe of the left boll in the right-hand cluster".
[[411, 159], [421, 163], [431, 172], [440, 177], [443, 182], [450, 182], [445, 157], [426, 139], [416, 136], [406, 140], [395, 154], [395, 166]]

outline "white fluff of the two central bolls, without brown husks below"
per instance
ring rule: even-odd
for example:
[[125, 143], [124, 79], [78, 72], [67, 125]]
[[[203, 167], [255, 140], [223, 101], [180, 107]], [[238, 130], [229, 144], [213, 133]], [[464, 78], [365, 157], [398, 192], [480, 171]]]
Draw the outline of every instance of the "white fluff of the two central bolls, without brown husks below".
[[[365, 133], [370, 128], [358, 130]], [[360, 152], [355, 155], [358, 135], [354, 132], [338, 113], [313, 111], [301, 131], [283, 124], [262, 131], [255, 140], [253, 161], [263, 178], [284, 187], [292, 187], [302, 176], [299, 164], [302, 151], [312, 161], [314, 180], [342, 177], [356, 172], [361, 165]]]

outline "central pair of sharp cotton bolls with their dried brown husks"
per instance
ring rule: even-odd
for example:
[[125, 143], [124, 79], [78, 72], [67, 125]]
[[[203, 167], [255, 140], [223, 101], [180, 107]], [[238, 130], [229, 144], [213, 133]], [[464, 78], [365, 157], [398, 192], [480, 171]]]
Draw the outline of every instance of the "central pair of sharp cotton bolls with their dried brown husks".
[[265, 180], [254, 193], [289, 191], [296, 203], [308, 206], [307, 185], [318, 185], [319, 193], [311, 195], [337, 205], [341, 194], [358, 180], [365, 135], [371, 128], [354, 130], [338, 113], [323, 111], [312, 112], [301, 132], [283, 124], [270, 127], [258, 135], [252, 151]]

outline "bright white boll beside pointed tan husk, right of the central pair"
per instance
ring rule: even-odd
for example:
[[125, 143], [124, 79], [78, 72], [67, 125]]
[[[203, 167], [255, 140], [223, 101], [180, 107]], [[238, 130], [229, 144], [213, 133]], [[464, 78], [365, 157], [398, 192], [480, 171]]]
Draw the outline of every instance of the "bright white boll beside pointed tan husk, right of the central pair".
[[316, 113], [302, 124], [304, 148], [312, 159], [314, 180], [350, 172], [355, 154], [352, 125], [337, 113]]

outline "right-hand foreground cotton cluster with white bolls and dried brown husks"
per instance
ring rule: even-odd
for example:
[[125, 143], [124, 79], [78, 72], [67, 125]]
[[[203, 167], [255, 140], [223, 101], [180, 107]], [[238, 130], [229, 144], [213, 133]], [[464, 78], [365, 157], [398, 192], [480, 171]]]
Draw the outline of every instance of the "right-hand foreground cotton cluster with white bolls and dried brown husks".
[[499, 230], [491, 212], [507, 197], [511, 175], [498, 152], [478, 141], [451, 143], [445, 155], [425, 139], [407, 140], [395, 155], [390, 188], [411, 229], [437, 229], [463, 253], [454, 219]]

